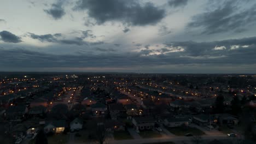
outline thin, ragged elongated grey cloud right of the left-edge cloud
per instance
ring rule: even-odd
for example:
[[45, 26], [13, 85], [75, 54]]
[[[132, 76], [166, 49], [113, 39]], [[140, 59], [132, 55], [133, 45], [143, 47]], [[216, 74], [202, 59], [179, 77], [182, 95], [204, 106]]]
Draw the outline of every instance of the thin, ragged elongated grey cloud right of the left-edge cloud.
[[41, 42], [48, 41], [51, 43], [56, 42], [57, 38], [61, 37], [61, 33], [56, 33], [54, 35], [52, 35], [52, 34], [37, 35], [37, 34], [33, 34], [33, 33], [28, 33], [28, 34], [30, 34], [30, 37], [32, 39], [38, 39]]

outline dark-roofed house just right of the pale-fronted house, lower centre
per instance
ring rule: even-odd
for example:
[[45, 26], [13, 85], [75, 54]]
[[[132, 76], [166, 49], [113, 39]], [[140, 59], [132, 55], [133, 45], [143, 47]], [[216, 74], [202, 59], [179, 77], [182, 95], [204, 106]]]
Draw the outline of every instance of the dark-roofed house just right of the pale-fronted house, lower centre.
[[118, 119], [121, 113], [124, 112], [123, 104], [109, 104], [109, 114], [111, 119]]

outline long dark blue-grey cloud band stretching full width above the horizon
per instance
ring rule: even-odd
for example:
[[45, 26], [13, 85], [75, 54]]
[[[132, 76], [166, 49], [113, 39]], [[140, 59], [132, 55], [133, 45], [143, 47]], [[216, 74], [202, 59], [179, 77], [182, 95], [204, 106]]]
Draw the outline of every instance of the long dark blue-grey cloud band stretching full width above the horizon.
[[[234, 45], [238, 45], [238, 48], [231, 49]], [[216, 46], [225, 46], [226, 49], [214, 50]], [[181, 51], [182, 49], [184, 51]], [[0, 68], [104, 68], [141, 67], [141, 65], [144, 67], [158, 67], [173, 64], [201, 64], [218, 67], [229, 64], [238, 67], [239, 65], [256, 64], [256, 37], [208, 43], [173, 42], [161, 45], [159, 49], [146, 49], [139, 52], [115, 53], [114, 49], [101, 47], [95, 47], [93, 50], [101, 53], [84, 52], [78, 55], [57, 55], [28, 51], [22, 48], [1, 48]], [[256, 69], [254, 68], [254, 70]]]

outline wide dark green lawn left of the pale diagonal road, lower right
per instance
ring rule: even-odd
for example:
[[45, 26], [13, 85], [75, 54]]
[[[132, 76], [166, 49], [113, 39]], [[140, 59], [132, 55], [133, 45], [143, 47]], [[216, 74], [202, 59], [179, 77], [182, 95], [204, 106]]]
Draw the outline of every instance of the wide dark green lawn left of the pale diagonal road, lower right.
[[197, 128], [183, 128], [183, 127], [175, 127], [175, 128], [168, 128], [166, 127], [167, 130], [170, 131], [170, 133], [177, 135], [177, 136], [184, 136], [185, 134], [191, 133], [193, 135], [205, 135], [205, 132], [203, 132], [200, 129]]

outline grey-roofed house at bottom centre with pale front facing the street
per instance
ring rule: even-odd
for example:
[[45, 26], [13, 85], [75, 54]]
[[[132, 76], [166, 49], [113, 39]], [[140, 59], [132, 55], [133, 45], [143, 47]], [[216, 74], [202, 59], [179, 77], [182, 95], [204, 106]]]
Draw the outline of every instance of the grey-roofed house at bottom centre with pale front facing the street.
[[133, 117], [132, 118], [133, 128], [138, 132], [139, 130], [152, 130], [154, 129], [155, 119], [150, 116], [146, 117]]

